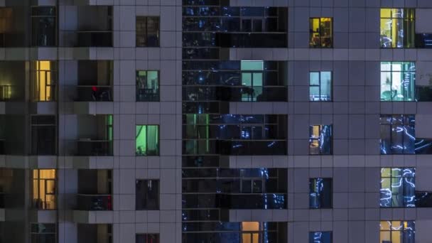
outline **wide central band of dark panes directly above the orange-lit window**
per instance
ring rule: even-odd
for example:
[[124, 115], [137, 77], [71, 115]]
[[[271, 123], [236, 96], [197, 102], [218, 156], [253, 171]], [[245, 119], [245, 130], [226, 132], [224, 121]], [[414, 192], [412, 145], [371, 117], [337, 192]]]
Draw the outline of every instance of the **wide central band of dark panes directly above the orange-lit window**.
[[286, 208], [286, 169], [183, 168], [182, 173], [183, 220], [195, 217], [188, 210], [196, 208]]

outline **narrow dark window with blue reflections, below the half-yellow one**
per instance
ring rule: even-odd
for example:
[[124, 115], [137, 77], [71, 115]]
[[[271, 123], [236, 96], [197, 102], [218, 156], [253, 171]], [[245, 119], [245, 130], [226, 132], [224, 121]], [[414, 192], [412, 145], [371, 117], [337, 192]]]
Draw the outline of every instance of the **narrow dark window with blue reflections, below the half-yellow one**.
[[332, 207], [333, 190], [331, 178], [311, 178], [309, 179], [309, 189], [309, 207]]

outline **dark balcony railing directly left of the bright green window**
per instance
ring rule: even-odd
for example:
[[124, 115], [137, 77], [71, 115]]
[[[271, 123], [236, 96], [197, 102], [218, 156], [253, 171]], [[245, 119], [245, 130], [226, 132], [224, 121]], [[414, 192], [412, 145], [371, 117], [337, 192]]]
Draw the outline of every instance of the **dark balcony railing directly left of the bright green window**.
[[80, 139], [78, 156], [112, 156], [112, 141]]

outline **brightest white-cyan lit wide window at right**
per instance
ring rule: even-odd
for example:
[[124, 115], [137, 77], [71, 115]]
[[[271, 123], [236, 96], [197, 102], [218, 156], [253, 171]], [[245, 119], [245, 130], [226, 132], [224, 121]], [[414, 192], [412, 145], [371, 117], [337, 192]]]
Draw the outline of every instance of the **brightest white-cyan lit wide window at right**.
[[381, 101], [414, 101], [415, 82], [415, 63], [381, 63]]

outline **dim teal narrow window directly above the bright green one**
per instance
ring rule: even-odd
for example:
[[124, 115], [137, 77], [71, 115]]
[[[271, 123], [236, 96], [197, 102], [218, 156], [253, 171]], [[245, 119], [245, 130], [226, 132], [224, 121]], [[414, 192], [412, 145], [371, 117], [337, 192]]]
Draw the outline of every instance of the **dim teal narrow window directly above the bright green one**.
[[136, 101], [158, 102], [159, 71], [136, 71]]

